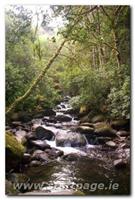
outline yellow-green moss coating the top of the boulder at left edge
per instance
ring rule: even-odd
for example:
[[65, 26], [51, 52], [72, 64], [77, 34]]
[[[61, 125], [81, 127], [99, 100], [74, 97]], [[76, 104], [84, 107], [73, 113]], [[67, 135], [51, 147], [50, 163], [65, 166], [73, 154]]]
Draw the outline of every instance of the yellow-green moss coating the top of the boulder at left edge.
[[24, 146], [19, 143], [15, 136], [10, 132], [6, 132], [6, 149], [8, 149], [15, 157], [22, 157], [25, 150]]

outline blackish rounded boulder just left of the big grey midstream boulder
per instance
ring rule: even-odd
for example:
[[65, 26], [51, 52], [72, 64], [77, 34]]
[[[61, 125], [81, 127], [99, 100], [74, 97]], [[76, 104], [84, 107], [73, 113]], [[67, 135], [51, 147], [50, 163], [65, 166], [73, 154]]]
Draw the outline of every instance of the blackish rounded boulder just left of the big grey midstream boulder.
[[38, 126], [35, 129], [35, 135], [39, 140], [52, 140], [54, 137], [54, 133], [42, 126]]

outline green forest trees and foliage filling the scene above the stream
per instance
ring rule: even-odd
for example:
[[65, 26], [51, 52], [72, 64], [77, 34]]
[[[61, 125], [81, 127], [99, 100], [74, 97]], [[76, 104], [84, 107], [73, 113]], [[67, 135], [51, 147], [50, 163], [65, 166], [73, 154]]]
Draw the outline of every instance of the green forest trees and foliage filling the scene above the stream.
[[5, 21], [7, 109], [50, 64], [12, 112], [52, 108], [69, 95], [75, 109], [130, 118], [129, 6], [9, 6]]

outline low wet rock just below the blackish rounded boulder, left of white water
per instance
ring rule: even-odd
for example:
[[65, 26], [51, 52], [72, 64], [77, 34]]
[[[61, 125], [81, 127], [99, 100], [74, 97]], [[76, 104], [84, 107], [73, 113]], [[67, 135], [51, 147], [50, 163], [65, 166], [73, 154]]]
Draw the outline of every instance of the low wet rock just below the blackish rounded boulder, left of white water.
[[50, 148], [50, 145], [47, 144], [46, 141], [42, 141], [42, 140], [31, 140], [30, 144], [41, 150]]

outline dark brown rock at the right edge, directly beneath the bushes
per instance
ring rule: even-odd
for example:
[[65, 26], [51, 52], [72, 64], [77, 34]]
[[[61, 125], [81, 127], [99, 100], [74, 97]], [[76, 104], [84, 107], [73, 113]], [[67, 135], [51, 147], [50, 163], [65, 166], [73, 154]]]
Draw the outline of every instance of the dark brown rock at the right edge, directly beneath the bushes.
[[129, 120], [115, 120], [111, 122], [112, 128], [116, 130], [129, 130], [130, 128], [130, 121]]

